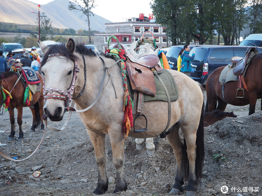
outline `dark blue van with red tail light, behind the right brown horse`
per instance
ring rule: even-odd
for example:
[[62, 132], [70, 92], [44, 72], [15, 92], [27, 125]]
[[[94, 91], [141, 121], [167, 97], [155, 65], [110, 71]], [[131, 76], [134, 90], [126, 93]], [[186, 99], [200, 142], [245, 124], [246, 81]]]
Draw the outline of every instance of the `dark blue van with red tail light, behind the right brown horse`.
[[[262, 47], [258, 47], [262, 52]], [[246, 46], [234, 45], [203, 45], [194, 47], [189, 56], [195, 52], [195, 58], [191, 61], [190, 76], [200, 84], [206, 85], [208, 76], [218, 67], [231, 64], [232, 56], [244, 57]]]

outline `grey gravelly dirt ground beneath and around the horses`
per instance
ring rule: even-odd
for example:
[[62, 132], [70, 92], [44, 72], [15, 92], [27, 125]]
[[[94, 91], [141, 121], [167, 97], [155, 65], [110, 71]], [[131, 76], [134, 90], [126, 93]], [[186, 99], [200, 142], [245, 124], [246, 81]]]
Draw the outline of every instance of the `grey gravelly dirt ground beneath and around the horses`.
[[[205, 128], [203, 178], [196, 195], [222, 195], [222, 186], [228, 187], [227, 195], [237, 193], [262, 195], [260, 104], [261, 100], [258, 100], [256, 113], [250, 116], [248, 116], [249, 106], [228, 105], [226, 109], [233, 111], [238, 117], [226, 117]], [[7, 141], [11, 129], [9, 113], [4, 112], [3, 116], [0, 116], [0, 142], [6, 144], [0, 148], [10, 157], [25, 158], [39, 144], [43, 133], [29, 132], [31, 123], [31, 111], [24, 108], [24, 142], [17, 142], [18, 133], [13, 141]], [[62, 127], [63, 122], [48, 121], [48, 125]], [[125, 141], [124, 169], [128, 191], [119, 195], [167, 195], [170, 192], [176, 174], [176, 158], [167, 140], [155, 137], [154, 143], [155, 154], [149, 156], [146, 149], [139, 151], [135, 148], [133, 138]], [[116, 174], [108, 136], [106, 144], [107, 172], [111, 183], [105, 195], [112, 195]], [[213, 154], [219, 155], [217, 160], [213, 159]], [[219, 160], [221, 157], [223, 159]], [[37, 166], [39, 168], [34, 168]], [[32, 176], [35, 169], [41, 172], [38, 178]], [[97, 166], [94, 148], [75, 113], [72, 114], [65, 130], [61, 132], [47, 130], [40, 148], [29, 159], [12, 162], [0, 158], [1, 196], [92, 195], [96, 186]], [[185, 195], [185, 191], [182, 195]]]

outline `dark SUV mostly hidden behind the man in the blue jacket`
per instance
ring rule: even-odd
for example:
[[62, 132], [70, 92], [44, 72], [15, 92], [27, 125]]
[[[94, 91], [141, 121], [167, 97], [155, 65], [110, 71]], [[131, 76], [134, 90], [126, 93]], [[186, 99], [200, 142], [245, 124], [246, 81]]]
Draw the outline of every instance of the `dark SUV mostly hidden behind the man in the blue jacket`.
[[[198, 47], [202, 45], [189, 45], [190, 50], [196, 46]], [[177, 57], [182, 48], [184, 48], [184, 45], [171, 46], [166, 53], [168, 64], [172, 68], [172, 70], [177, 70]]]

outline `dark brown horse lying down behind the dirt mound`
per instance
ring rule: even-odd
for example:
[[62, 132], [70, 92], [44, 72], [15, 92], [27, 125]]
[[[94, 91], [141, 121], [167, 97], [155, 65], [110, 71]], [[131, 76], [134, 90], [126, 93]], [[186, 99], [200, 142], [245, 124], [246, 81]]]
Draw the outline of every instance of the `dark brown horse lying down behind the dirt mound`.
[[236, 118], [237, 116], [233, 112], [221, 112], [220, 110], [205, 113], [204, 126], [212, 125], [226, 117]]

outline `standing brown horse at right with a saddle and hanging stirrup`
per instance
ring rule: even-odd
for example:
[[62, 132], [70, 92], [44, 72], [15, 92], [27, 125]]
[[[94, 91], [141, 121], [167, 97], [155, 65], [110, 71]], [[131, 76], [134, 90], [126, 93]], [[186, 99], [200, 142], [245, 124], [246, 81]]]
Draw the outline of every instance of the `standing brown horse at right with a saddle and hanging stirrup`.
[[255, 113], [256, 100], [262, 98], [262, 54], [255, 54], [247, 68], [244, 81], [247, 84], [248, 92], [247, 90], [244, 91], [244, 98], [236, 98], [238, 81], [230, 81], [225, 83], [225, 99], [223, 99], [219, 76], [224, 67], [219, 67], [213, 71], [206, 81], [206, 112], [212, 112], [216, 109], [225, 111], [229, 103], [234, 106], [249, 104], [249, 115]]

